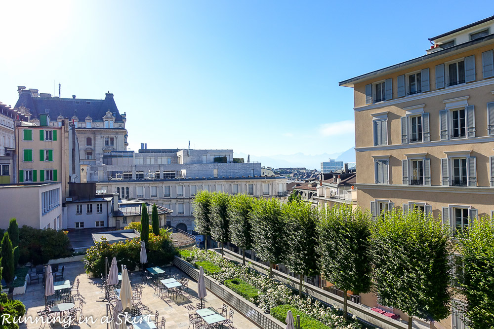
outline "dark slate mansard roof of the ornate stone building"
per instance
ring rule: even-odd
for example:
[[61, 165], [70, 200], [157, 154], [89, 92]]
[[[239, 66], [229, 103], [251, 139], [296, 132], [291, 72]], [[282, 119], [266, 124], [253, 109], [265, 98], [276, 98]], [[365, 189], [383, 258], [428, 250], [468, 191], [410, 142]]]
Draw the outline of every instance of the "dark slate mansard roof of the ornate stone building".
[[20, 91], [19, 99], [15, 103], [14, 109], [19, 109], [21, 106], [31, 111], [31, 118], [39, 118], [40, 114], [46, 113], [45, 110], [49, 109], [48, 114], [51, 120], [56, 119], [59, 115], [68, 119], [75, 115], [79, 121], [84, 121], [87, 116], [91, 117], [93, 121], [102, 121], [107, 111], [115, 113], [115, 121], [122, 122], [123, 119], [111, 93], [106, 93], [104, 100], [96, 100], [35, 97], [30, 90], [24, 89]]

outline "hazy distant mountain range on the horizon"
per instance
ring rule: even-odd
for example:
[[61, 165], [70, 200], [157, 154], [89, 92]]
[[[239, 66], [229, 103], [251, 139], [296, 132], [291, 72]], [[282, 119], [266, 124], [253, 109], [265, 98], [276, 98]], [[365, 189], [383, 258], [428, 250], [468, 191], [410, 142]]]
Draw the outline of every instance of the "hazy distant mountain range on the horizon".
[[[244, 158], [247, 162], [247, 154], [234, 152], [235, 157]], [[321, 170], [321, 162], [335, 159], [336, 161], [355, 162], [355, 148], [351, 147], [344, 152], [323, 153], [317, 155], [306, 155], [304, 153], [280, 154], [271, 156], [257, 156], [250, 154], [250, 161], [261, 162], [263, 166], [272, 168], [305, 167], [307, 169]]]

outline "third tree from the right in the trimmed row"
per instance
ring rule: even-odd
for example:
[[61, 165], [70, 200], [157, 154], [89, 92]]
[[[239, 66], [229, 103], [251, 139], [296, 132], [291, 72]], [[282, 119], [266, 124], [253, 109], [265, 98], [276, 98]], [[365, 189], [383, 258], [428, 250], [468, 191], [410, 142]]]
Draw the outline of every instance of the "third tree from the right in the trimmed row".
[[346, 318], [347, 291], [371, 290], [371, 218], [351, 206], [333, 206], [322, 212], [318, 231], [321, 275], [343, 291]]

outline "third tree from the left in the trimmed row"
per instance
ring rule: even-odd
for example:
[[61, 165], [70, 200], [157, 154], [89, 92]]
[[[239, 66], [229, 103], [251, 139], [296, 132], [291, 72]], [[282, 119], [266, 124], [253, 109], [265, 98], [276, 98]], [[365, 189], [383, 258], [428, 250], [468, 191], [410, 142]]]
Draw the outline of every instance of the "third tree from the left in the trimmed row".
[[254, 243], [252, 237], [252, 226], [250, 224], [250, 213], [254, 198], [247, 194], [237, 194], [230, 200], [228, 216], [230, 217], [230, 239], [243, 250], [242, 260], [246, 264], [246, 250], [251, 250]]

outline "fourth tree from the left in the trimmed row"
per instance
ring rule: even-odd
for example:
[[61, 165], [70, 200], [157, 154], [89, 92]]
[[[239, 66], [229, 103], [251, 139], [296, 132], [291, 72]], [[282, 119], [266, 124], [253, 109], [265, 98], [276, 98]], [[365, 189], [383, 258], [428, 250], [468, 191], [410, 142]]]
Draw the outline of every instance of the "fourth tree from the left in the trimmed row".
[[269, 277], [273, 266], [285, 260], [288, 249], [285, 222], [280, 202], [276, 199], [260, 199], [252, 207], [254, 251], [263, 261], [269, 262]]

